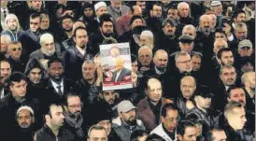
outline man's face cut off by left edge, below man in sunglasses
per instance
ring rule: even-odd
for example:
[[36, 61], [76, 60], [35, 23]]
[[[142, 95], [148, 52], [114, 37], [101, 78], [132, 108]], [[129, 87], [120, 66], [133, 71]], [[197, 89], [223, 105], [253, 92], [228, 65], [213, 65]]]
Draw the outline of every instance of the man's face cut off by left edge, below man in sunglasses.
[[1, 77], [1, 83], [4, 84], [4, 82], [6, 81], [6, 79], [9, 77], [9, 75], [11, 74], [11, 68], [10, 68], [10, 64], [7, 62], [0, 62], [0, 77]]

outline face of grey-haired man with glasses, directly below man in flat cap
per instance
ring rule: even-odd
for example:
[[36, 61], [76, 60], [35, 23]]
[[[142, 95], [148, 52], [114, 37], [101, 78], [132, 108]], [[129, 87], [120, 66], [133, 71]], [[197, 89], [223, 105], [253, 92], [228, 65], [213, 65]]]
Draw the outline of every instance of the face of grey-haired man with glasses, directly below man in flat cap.
[[179, 72], [191, 72], [192, 71], [192, 59], [189, 54], [178, 57], [176, 62]]

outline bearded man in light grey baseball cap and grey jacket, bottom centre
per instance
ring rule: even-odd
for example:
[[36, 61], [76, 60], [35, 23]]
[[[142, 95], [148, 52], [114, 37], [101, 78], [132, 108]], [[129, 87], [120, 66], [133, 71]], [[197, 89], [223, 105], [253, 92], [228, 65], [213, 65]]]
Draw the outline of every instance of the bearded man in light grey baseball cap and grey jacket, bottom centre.
[[112, 127], [122, 141], [130, 141], [131, 134], [136, 130], [145, 130], [143, 122], [136, 119], [136, 108], [127, 100], [121, 101], [118, 105], [119, 117], [112, 120]]

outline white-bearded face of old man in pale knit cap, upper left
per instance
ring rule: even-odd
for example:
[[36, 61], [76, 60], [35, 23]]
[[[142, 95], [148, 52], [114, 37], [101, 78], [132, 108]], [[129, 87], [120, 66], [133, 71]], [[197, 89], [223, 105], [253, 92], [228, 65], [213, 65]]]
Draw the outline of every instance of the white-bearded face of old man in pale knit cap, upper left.
[[53, 39], [45, 40], [45, 42], [41, 46], [44, 54], [51, 56], [55, 53], [55, 45]]

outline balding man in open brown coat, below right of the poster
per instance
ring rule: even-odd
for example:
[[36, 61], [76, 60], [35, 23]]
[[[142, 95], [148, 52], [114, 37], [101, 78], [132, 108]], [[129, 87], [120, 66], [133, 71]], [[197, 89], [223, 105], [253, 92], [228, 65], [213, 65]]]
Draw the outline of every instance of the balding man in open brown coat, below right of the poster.
[[163, 97], [162, 84], [157, 78], [149, 78], [145, 92], [147, 97], [137, 105], [138, 117], [144, 122], [147, 130], [151, 131], [161, 123], [162, 107], [173, 101]]

